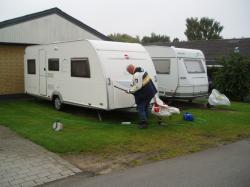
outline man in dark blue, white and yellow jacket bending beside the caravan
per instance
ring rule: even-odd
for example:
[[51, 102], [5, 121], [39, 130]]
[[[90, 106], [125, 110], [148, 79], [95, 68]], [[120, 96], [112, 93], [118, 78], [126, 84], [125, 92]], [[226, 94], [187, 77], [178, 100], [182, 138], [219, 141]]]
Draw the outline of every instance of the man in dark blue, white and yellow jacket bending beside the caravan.
[[148, 73], [141, 67], [135, 67], [133, 64], [130, 64], [127, 66], [127, 71], [133, 75], [131, 88], [127, 92], [133, 94], [135, 97], [140, 118], [138, 127], [147, 128], [148, 107], [157, 90]]

